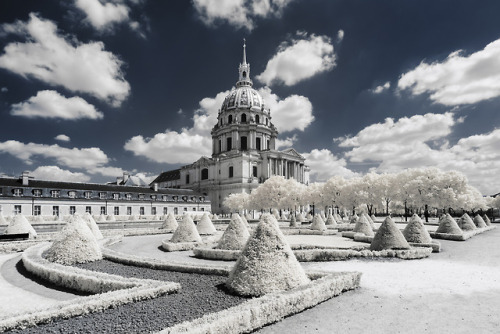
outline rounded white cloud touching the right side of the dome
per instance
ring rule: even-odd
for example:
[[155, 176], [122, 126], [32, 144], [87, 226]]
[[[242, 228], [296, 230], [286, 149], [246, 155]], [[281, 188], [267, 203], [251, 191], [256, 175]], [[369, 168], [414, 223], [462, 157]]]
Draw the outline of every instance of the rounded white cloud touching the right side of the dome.
[[269, 87], [259, 89], [259, 93], [266, 107], [271, 109], [272, 122], [281, 133], [304, 131], [314, 121], [312, 103], [307, 97], [290, 95], [281, 100]]

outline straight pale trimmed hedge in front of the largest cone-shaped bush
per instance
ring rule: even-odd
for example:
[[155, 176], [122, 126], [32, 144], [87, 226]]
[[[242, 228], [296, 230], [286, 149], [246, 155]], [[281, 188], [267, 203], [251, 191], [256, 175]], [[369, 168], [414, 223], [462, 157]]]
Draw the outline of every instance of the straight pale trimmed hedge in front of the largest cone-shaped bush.
[[308, 273], [309, 284], [253, 298], [238, 306], [165, 328], [160, 334], [248, 333], [359, 287], [361, 273]]

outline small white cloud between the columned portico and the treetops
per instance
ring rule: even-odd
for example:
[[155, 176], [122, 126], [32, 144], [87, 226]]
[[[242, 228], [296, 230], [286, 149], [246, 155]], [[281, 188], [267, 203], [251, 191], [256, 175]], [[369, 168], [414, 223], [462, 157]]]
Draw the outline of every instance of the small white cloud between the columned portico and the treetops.
[[337, 158], [330, 150], [314, 149], [309, 153], [301, 153], [306, 158], [306, 164], [311, 168], [312, 182], [324, 182], [335, 175], [351, 178], [357, 173], [346, 167], [345, 159]]

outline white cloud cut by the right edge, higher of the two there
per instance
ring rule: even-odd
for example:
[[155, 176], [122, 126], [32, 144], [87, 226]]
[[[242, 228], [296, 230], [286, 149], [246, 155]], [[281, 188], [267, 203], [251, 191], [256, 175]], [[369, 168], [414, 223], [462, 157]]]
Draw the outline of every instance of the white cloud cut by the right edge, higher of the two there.
[[443, 62], [420, 63], [404, 73], [400, 90], [413, 95], [429, 93], [436, 103], [456, 106], [500, 96], [500, 39], [468, 56], [451, 53]]

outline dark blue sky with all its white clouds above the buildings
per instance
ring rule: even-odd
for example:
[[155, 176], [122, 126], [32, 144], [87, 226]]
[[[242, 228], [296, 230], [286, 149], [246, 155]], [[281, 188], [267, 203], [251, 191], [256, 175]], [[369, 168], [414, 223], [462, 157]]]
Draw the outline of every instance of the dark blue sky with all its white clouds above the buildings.
[[0, 175], [150, 182], [211, 155], [243, 39], [312, 181], [435, 166], [500, 192], [500, 2], [2, 0]]

